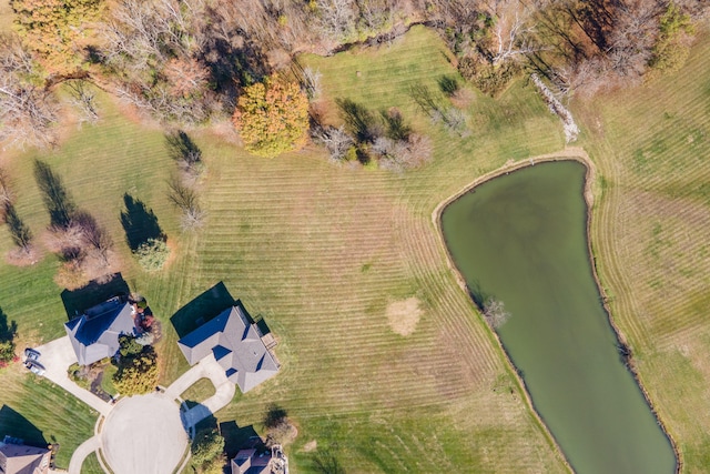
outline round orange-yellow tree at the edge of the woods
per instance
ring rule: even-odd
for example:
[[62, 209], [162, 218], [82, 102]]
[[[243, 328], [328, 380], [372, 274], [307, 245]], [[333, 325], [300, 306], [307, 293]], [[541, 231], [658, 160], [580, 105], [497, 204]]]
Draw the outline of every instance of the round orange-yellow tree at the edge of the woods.
[[244, 89], [233, 122], [251, 153], [298, 150], [308, 131], [308, 98], [297, 83], [266, 79]]

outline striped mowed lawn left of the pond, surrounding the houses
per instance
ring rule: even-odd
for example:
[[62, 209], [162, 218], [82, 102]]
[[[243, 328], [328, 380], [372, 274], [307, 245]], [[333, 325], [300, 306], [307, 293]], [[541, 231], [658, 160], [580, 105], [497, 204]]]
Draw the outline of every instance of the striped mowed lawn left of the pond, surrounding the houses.
[[[314, 471], [316, 460], [336, 460], [351, 472], [564, 471], [456, 285], [430, 220], [439, 201], [480, 173], [560, 149], [557, 120], [518, 82], [497, 101], [475, 94], [469, 138], [432, 128], [409, 85], [422, 80], [437, 90], [436, 80], [455, 70], [436, 34], [422, 28], [392, 47], [303, 62], [323, 73], [326, 101], [349, 98], [373, 111], [397, 107], [432, 137], [434, 162], [399, 175], [335, 167], [315, 148], [264, 160], [204, 131], [195, 140], [206, 163], [201, 186], [209, 216], [204, 229], [185, 235], [164, 195], [173, 164], [161, 131], [128, 120], [104, 99], [95, 128], [73, 131], [57, 151], [4, 160], [20, 215], [42, 233], [48, 216], [31, 162], [47, 160], [77, 203], [110, 230], [123, 278], [163, 322], [165, 384], [186, 369], [169, 319], [193, 297], [223, 281], [262, 315], [280, 341], [283, 370], [237, 394], [217, 417], [263, 433], [267, 406], [284, 407], [300, 431], [290, 450], [297, 472]], [[175, 259], [161, 273], [141, 272], [130, 256], [119, 221], [125, 192], [154, 210], [172, 241]], [[9, 238], [0, 235], [4, 252]], [[63, 334], [67, 314], [52, 281], [58, 265], [51, 255], [29, 269], [0, 264], [0, 307], [18, 322], [23, 343]], [[422, 315], [405, 337], [388, 325], [386, 307], [409, 296], [418, 299]], [[8, 377], [0, 375], [0, 383], [18, 384]], [[17, 405], [33, 391], [23, 383], [1, 392], [0, 403]], [[42, 430], [63, 422], [48, 420]]]

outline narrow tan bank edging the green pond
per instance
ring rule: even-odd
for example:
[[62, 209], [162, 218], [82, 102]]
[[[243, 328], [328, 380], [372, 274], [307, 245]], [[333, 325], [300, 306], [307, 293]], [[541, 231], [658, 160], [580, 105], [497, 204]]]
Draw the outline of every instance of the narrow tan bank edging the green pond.
[[[460, 286], [460, 289], [467, 294], [467, 296], [469, 297], [469, 300], [471, 300], [471, 293], [468, 289], [468, 285], [466, 284], [466, 281], [464, 279], [464, 276], [462, 275], [460, 271], [458, 270], [458, 268], [456, 266], [456, 264], [454, 263], [454, 259], [449, 252], [448, 245], [446, 243], [446, 238], [444, 236], [444, 231], [443, 231], [443, 226], [442, 226], [442, 214], [444, 212], [444, 210], [454, 201], [458, 200], [459, 198], [462, 198], [463, 195], [467, 194], [468, 192], [470, 192], [471, 190], [474, 190], [475, 188], [477, 188], [480, 184], [484, 184], [488, 181], [491, 181], [496, 178], [499, 178], [501, 175], [508, 174], [510, 172], [514, 171], [518, 171], [528, 167], [532, 167], [536, 163], [544, 163], [544, 162], [556, 162], [556, 161], [576, 161], [581, 163], [585, 167], [585, 186], [584, 186], [584, 199], [585, 199], [585, 203], [586, 203], [586, 240], [587, 240], [587, 253], [588, 253], [588, 258], [590, 260], [591, 263], [591, 270], [592, 270], [592, 278], [594, 281], [597, 285], [597, 291], [599, 293], [600, 296], [600, 302], [601, 305], [604, 307], [604, 311], [607, 313], [607, 321], [609, 322], [615, 336], [617, 339], [617, 342], [619, 344], [619, 346], [622, 347], [628, 347], [628, 343], [626, 337], [623, 336], [623, 334], [621, 333], [621, 331], [619, 330], [619, 327], [617, 326], [611, 311], [609, 309], [608, 305], [608, 296], [604, 290], [604, 286], [601, 285], [601, 281], [599, 280], [598, 276], [598, 272], [597, 272], [597, 262], [596, 262], [596, 256], [595, 253], [592, 252], [592, 245], [591, 245], [591, 218], [592, 218], [592, 209], [594, 209], [594, 203], [595, 203], [595, 194], [592, 191], [592, 188], [596, 183], [596, 177], [597, 177], [597, 170], [595, 168], [595, 164], [592, 163], [592, 161], [590, 160], [589, 155], [586, 153], [586, 151], [582, 148], [579, 147], [569, 147], [569, 148], [565, 148], [561, 151], [555, 152], [555, 153], [549, 153], [549, 154], [542, 154], [542, 155], [538, 155], [538, 157], [531, 157], [525, 160], [519, 160], [519, 161], [508, 161], [506, 162], [503, 167], [488, 172], [477, 179], [475, 179], [473, 182], [468, 183], [467, 185], [465, 185], [464, 188], [462, 188], [458, 192], [454, 193], [453, 195], [450, 195], [449, 198], [445, 199], [444, 201], [442, 201], [432, 212], [432, 221], [434, 223], [434, 226], [436, 228], [437, 231], [437, 238], [442, 244], [442, 246], [444, 248], [444, 251], [446, 252], [446, 260], [447, 260], [447, 265], [448, 268], [452, 270], [454, 278], [456, 279], [456, 282], [458, 283], [458, 285]], [[471, 300], [473, 302], [473, 300]], [[475, 302], [473, 302], [475, 306], [477, 306], [477, 304]], [[480, 310], [480, 309], [478, 309]], [[523, 376], [520, 375], [518, 367], [513, 363], [513, 360], [510, 357], [510, 354], [508, 353], [508, 351], [506, 350], [505, 345], [503, 344], [500, 337], [498, 336], [498, 333], [496, 331], [494, 331], [493, 329], [489, 327], [489, 331], [491, 333], [491, 335], [495, 337], [495, 340], [498, 343], [498, 346], [500, 347], [500, 350], [503, 351], [503, 353], [505, 354], [505, 359], [507, 361], [507, 365], [508, 365], [508, 370], [511, 372], [511, 374], [514, 375], [514, 377], [518, 381], [519, 387], [523, 390], [524, 392], [524, 396], [527, 401], [528, 407], [529, 410], [532, 412], [534, 417], [536, 418], [536, 421], [540, 424], [540, 426], [542, 427], [544, 433], [548, 436], [549, 442], [551, 443], [551, 445], [554, 445], [557, 450], [557, 452], [559, 453], [564, 464], [566, 465], [566, 467], [570, 471], [570, 472], [575, 472], [575, 470], [572, 468], [571, 464], [569, 463], [565, 452], [561, 450], [557, 438], [555, 437], [555, 435], [550, 432], [549, 427], [547, 426], [547, 424], [545, 423], [545, 420], [541, 417], [541, 415], [539, 414], [539, 412], [537, 411], [535, 403], [532, 402], [532, 399], [528, 392], [528, 387], [526, 385], [525, 380], [523, 379]], [[653, 403], [651, 402], [651, 399], [649, 396], [649, 393], [647, 392], [646, 387], [643, 386], [643, 384], [641, 383], [641, 380], [638, 375], [638, 370], [636, 366], [636, 361], [633, 360], [633, 356], [631, 354], [630, 357], [626, 359], [625, 361], [625, 365], [626, 369], [630, 372], [631, 376], [633, 377], [633, 381], [636, 383], [636, 385], [639, 387], [639, 390], [641, 391], [641, 393], [643, 394], [643, 399], [647, 403], [647, 405], [649, 406], [649, 409], [651, 410], [651, 413], [657, 422], [657, 424], [659, 425], [659, 427], [661, 428], [661, 432], [663, 433], [663, 435], [668, 438], [671, 448], [673, 451], [674, 457], [676, 457], [676, 473], [680, 473], [682, 470], [682, 457], [681, 457], [681, 453], [680, 450], [678, 447], [678, 444], [676, 442], [676, 440], [670, 435], [670, 433], [668, 432], [665, 422], [661, 420], [661, 417], [659, 416]]]

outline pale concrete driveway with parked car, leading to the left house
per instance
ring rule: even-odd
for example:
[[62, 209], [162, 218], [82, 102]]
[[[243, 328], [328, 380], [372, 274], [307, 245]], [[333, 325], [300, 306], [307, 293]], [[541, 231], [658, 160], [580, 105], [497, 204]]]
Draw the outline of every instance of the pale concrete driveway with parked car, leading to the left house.
[[69, 336], [55, 339], [36, 349], [42, 354], [40, 356], [40, 363], [44, 365], [45, 369], [44, 377], [54, 382], [102, 415], [106, 416], [111, 412], [113, 405], [99, 399], [88, 390], [80, 387], [69, 379], [67, 369], [77, 362], [77, 354], [71, 346]]

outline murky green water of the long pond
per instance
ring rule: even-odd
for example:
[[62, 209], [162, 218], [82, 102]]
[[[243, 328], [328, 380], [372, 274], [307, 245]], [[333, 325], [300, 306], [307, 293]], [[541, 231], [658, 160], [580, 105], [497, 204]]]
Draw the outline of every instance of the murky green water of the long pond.
[[474, 300], [510, 313], [498, 335], [575, 471], [673, 473], [592, 275], [585, 174], [561, 161], [488, 181], [444, 210], [444, 236]]

